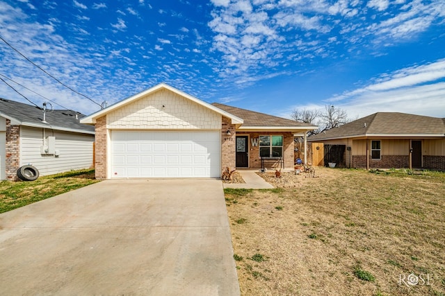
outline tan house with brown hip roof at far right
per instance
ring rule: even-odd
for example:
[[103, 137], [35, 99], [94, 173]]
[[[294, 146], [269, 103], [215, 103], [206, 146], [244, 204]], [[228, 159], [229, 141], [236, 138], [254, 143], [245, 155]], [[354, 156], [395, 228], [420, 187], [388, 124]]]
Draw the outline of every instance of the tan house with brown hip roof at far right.
[[378, 112], [308, 141], [342, 148], [346, 167], [445, 170], [445, 119]]

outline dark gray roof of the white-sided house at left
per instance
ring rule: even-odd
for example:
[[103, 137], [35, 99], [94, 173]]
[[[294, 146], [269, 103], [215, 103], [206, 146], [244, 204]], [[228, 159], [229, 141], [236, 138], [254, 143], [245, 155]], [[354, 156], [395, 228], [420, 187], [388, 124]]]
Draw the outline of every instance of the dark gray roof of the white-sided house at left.
[[9, 119], [14, 125], [95, 134], [94, 127], [79, 122], [79, 119], [85, 115], [73, 110], [53, 110], [46, 112], [45, 119], [47, 123], [43, 123], [42, 109], [33, 105], [0, 98], [0, 116]]

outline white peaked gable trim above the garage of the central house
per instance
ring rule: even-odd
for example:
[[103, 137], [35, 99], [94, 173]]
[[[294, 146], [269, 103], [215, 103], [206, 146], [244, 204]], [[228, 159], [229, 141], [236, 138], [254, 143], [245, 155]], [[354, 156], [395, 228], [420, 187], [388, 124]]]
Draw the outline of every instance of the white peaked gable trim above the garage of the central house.
[[94, 124], [94, 123], [96, 123], [96, 119], [98, 119], [99, 117], [102, 117], [102, 116], [106, 115], [107, 113], [112, 112], [113, 110], [116, 110], [124, 105], [128, 105], [128, 104], [132, 103], [133, 101], [137, 101], [138, 99], [143, 98], [149, 94], [158, 92], [161, 89], [168, 89], [170, 92], [174, 92], [175, 94], [178, 94], [179, 96], [187, 98], [190, 101], [193, 101], [199, 105], [207, 107], [210, 110], [213, 110], [216, 113], [226, 116], [229, 119], [232, 119], [232, 124], [239, 125], [239, 124], [243, 123], [243, 119], [241, 119], [237, 116], [234, 116], [234, 114], [229, 114], [228, 112], [225, 112], [224, 110], [221, 110], [218, 107], [215, 107], [209, 103], [201, 101], [199, 98], [195, 98], [194, 96], [186, 94], [185, 92], [181, 92], [179, 89], [175, 89], [175, 87], [171, 87], [170, 85], [167, 85], [165, 83], [160, 83], [159, 85], [155, 85], [154, 87], [145, 89], [145, 91], [143, 91], [143, 92], [140, 92], [140, 93], [130, 96], [128, 98], [124, 98], [122, 101], [119, 101], [118, 103], [115, 103], [111, 106], [106, 107], [105, 109], [102, 109], [102, 110], [99, 110], [93, 114], [90, 114], [90, 115], [86, 116], [85, 118], [83, 118], [81, 120], [81, 123]]

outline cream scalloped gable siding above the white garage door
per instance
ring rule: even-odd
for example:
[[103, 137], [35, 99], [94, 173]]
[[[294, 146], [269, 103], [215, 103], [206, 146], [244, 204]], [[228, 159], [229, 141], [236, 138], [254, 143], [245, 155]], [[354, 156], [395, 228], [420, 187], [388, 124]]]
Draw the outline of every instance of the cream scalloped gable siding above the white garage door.
[[107, 128], [220, 130], [221, 115], [167, 89], [140, 98], [106, 116]]

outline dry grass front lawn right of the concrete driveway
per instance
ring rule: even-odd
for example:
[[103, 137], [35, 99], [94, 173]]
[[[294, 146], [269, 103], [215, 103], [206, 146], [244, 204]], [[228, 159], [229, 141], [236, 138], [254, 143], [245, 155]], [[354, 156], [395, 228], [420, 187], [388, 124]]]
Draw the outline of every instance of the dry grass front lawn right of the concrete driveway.
[[[317, 168], [226, 191], [241, 294], [445, 295], [445, 174], [395, 173]], [[399, 284], [410, 274], [429, 285]]]

